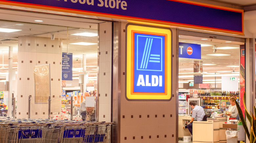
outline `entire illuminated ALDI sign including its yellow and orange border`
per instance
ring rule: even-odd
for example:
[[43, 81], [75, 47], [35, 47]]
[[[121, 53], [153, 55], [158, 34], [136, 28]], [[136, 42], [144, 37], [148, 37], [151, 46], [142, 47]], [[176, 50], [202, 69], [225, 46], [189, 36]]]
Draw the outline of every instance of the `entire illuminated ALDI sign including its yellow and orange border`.
[[126, 32], [126, 99], [171, 100], [171, 30], [128, 24]]

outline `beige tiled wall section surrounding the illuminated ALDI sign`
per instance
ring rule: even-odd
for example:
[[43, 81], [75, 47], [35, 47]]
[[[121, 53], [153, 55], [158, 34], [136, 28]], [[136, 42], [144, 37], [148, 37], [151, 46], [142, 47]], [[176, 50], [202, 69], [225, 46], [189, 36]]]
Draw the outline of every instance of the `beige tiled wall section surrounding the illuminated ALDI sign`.
[[[115, 132], [120, 132], [119, 139], [115, 142], [120, 143], [175, 143], [178, 142], [178, 114], [177, 114], [177, 99], [176, 99], [176, 29], [172, 29], [172, 100], [171, 101], [128, 101], [125, 98], [125, 26], [127, 23], [122, 23], [119, 29], [121, 38], [120, 60], [121, 73], [120, 74], [120, 97], [114, 96], [113, 98], [120, 98], [120, 114], [118, 122], [120, 127], [115, 128]], [[120, 41], [119, 41], [120, 42]], [[129, 49], [127, 49], [129, 50]], [[170, 49], [168, 49], [170, 50]], [[129, 60], [129, 59], [127, 59]], [[118, 86], [118, 85], [113, 85]], [[115, 91], [113, 91], [115, 92]], [[115, 109], [113, 109], [115, 110]], [[114, 113], [113, 113], [114, 114]], [[114, 120], [115, 121], [115, 120]], [[119, 126], [116, 125], [116, 126]], [[120, 130], [120, 131], [118, 131]], [[118, 137], [117, 137], [118, 138]]]

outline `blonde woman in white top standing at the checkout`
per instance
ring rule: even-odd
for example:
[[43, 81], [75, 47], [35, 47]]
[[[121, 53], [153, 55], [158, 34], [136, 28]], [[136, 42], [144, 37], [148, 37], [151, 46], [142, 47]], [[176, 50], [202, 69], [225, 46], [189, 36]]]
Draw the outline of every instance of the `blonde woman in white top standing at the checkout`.
[[236, 107], [236, 99], [235, 97], [229, 98], [230, 105], [225, 113], [219, 114], [219, 116], [222, 116], [223, 114], [227, 115], [227, 119], [229, 118], [236, 118], [238, 114], [238, 110]]

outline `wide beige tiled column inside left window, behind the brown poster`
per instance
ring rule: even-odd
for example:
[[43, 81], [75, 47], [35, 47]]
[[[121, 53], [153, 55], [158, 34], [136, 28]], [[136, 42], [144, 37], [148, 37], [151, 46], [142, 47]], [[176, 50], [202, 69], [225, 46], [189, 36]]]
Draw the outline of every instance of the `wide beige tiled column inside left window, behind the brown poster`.
[[[20, 36], [18, 39], [17, 118], [48, 119], [48, 104], [35, 104], [34, 65], [50, 64], [51, 112], [61, 111], [61, 39]], [[52, 116], [52, 115], [51, 115]]]

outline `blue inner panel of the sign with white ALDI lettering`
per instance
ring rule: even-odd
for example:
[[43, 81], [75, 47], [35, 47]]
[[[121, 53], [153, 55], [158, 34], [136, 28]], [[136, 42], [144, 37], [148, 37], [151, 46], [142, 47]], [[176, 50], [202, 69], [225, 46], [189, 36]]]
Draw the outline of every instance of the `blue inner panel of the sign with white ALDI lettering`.
[[165, 36], [134, 33], [134, 92], [164, 92]]

